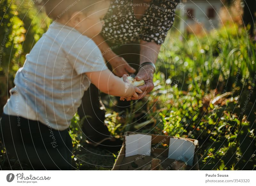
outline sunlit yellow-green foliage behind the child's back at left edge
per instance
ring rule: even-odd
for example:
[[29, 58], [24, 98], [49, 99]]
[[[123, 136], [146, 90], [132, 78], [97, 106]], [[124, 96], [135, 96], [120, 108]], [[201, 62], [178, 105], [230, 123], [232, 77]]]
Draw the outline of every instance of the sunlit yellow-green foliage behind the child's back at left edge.
[[14, 75], [23, 66], [25, 56], [50, 24], [30, 0], [0, 1], [0, 114], [13, 86]]

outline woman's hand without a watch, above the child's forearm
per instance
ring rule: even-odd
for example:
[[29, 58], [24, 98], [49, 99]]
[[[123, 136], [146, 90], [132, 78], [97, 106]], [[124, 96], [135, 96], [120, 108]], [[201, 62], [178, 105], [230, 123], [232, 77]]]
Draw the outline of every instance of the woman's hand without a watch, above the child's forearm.
[[116, 56], [109, 60], [110, 65], [112, 66], [113, 73], [118, 77], [122, 77], [124, 74], [133, 74], [136, 72], [124, 58]]

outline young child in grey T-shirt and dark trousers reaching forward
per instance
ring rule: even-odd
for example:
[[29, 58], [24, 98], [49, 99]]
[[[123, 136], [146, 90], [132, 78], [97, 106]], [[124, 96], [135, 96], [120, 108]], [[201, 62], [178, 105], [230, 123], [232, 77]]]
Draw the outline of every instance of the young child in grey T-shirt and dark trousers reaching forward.
[[108, 70], [91, 39], [102, 29], [108, 0], [45, 2], [54, 21], [15, 75], [1, 135], [7, 153], [33, 169], [70, 170], [68, 126], [90, 83], [128, 100], [142, 91]]

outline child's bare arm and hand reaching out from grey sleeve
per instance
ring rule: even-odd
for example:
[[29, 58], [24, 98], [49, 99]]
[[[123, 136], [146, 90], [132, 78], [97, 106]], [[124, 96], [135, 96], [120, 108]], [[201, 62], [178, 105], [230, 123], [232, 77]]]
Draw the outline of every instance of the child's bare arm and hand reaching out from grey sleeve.
[[137, 93], [142, 91], [131, 83], [125, 83], [121, 78], [115, 76], [110, 70], [99, 72], [87, 72], [86, 76], [100, 91], [119, 97], [138, 97]]

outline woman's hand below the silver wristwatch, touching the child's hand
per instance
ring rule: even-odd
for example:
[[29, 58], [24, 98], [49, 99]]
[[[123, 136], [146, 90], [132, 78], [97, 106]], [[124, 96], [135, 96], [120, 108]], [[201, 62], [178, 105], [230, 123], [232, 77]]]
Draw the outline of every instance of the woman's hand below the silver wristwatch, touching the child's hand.
[[144, 80], [145, 85], [138, 87], [140, 90], [143, 91], [143, 93], [138, 94], [139, 96], [138, 98], [132, 97], [132, 100], [142, 99], [154, 89], [153, 74], [154, 74], [154, 67], [151, 65], [145, 65], [140, 68], [140, 71], [138, 72], [135, 79], [137, 81]]

